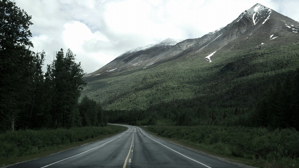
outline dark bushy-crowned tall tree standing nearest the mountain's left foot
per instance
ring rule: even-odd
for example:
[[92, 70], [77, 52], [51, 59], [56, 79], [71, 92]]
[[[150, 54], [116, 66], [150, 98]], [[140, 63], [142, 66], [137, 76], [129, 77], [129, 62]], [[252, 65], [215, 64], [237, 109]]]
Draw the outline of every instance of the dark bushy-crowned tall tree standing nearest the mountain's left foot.
[[58, 127], [70, 127], [71, 115], [81, 94], [84, 75], [80, 63], [75, 63], [75, 56], [68, 49], [64, 56], [63, 49], [56, 54], [56, 59], [47, 66], [46, 82], [52, 91], [52, 119]]

